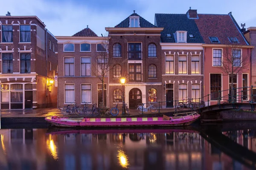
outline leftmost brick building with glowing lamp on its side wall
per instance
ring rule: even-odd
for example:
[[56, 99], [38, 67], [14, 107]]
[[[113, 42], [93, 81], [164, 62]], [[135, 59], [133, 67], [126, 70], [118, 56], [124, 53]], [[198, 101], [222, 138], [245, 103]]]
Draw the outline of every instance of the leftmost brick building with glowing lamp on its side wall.
[[1, 109], [57, 104], [57, 40], [36, 16], [0, 16]]

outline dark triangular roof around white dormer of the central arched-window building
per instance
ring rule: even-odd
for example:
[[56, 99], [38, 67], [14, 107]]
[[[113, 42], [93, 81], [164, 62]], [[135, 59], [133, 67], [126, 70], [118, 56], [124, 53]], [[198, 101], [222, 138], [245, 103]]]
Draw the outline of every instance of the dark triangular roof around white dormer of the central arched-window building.
[[128, 28], [131, 16], [138, 16], [138, 17], [140, 17], [140, 27], [141, 28], [154, 28], [154, 27], [157, 27], [157, 26], [154, 26], [153, 24], [151, 24], [150, 22], [145, 20], [143, 17], [141, 17], [140, 15], [138, 15], [137, 13], [134, 12], [129, 17], [125, 18], [125, 20], [123, 20], [121, 23], [117, 24], [115, 26], [115, 28]]

